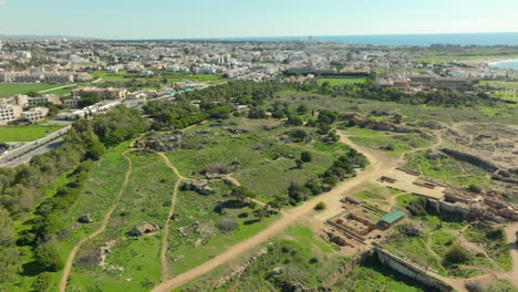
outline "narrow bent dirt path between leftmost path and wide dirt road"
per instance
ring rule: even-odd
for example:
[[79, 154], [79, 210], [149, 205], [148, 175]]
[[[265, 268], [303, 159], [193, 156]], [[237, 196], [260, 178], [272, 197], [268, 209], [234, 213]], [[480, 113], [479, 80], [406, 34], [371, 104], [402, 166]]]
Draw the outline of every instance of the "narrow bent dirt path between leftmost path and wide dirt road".
[[178, 189], [179, 186], [182, 185], [182, 181], [184, 181], [186, 178], [183, 177], [179, 173], [178, 169], [170, 163], [169, 158], [167, 155], [163, 153], [156, 153], [158, 156], [164, 158], [165, 164], [173, 169], [173, 171], [178, 176], [178, 180], [175, 184], [175, 190], [173, 191], [173, 196], [170, 198], [170, 209], [169, 213], [167, 215], [167, 220], [164, 225], [164, 236], [162, 237], [162, 248], [160, 248], [160, 263], [162, 263], [162, 281], [166, 281], [169, 278], [169, 262], [167, 260], [167, 248], [169, 244], [168, 238], [169, 238], [169, 222], [170, 218], [173, 217], [175, 212], [175, 206], [176, 206], [176, 197], [178, 196]]

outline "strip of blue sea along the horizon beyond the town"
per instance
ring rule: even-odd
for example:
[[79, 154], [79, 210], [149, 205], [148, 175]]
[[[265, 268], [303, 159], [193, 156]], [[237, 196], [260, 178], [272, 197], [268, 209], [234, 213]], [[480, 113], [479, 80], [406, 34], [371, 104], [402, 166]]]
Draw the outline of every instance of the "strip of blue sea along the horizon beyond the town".
[[[518, 45], [518, 32], [311, 36], [313, 41], [373, 45]], [[220, 38], [226, 41], [308, 41], [309, 36]]]

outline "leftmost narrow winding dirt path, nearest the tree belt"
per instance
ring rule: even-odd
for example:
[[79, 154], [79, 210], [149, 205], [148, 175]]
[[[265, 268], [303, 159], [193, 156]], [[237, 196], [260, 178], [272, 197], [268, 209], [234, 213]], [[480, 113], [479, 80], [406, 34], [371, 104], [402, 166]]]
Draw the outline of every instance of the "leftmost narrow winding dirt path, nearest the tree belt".
[[125, 188], [127, 187], [127, 184], [130, 182], [130, 177], [132, 175], [132, 171], [133, 171], [133, 163], [132, 163], [132, 159], [130, 157], [127, 157], [127, 153], [131, 152], [131, 150], [127, 150], [125, 153], [123, 153], [122, 155], [124, 156], [124, 158], [127, 159], [127, 170], [126, 170], [126, 175], [124, 177], [124, 182], [121, 187], [121, 189], [118, 190], [117, 192], [117, 197], [116, 197], [116, 200], [115, 202], [112, 205], [112, 207], [110, 208], [108, 212], [104, 216], [104, 219], [103, 219], [103, 223], [101, 225], [101, 227], [95, 230], [93, 233], [91, 233], [90, 236], [83, 238], [81, 241], [79, 241], [77, 243], [75, 243], [74, 248], [70, 251], [69, 253], [69, 258], [66, 259], [66, 263], [65, 263], [65, 267], [63, 269], [63, 274], [61, 275], [61, 281], [60, 281], [60, 289], [59, 291], [60, 292], [65, 292], [66, 291], [66, 283], [68, 283], [68, 279], [69, 279], [69, 275], [70, 275], [70, 272], [72, 270], [72, 264], [74, 262], [74, 259], [75, 259], [75, 255], [77, 254], [77, 251], [79, 249], [89, 240], [91, 240], [92, 238], [99, 236], [101, 232], [103, 232], [105, 229], [106, 229], [106, 226], [107, 226], [107, 222], [110, 221], [110, 219], [112, 218], [112, 215], [113, 212], [115, 211], [115, 208], [117, 208], [118, 204], [121, 202], [121, 197], [122, 195], [124, 194], [124, 190]]

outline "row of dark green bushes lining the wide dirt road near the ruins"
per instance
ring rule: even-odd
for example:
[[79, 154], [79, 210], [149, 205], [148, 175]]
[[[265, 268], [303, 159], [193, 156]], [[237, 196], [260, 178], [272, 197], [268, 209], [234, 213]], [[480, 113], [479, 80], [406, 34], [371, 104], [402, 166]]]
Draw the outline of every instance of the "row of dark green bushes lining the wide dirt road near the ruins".
[[291, 184], [288, 188], [288, 199], [276, 198], [273, 205], [298, 205], [307, 200], [310, 196], [317, 196], [323, 191], [329, 191], [339, 181], [354, 175], [354, 166], [365, 167], [367, 164], [366, 157], [355, 149], [349, 150], [344, 156], [338, 158], [328, 170], [319, 176], [318, 179], [310, 179], [304, 185], [300, 186]]

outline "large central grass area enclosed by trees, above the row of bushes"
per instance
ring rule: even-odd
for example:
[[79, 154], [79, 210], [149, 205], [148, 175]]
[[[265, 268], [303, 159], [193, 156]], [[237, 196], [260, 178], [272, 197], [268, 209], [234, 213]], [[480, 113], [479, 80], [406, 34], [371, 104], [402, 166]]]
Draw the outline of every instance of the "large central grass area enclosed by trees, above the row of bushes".
[[[349, 150], [349, 147], [340, 143], [279, 142], [277, 137], [293, 127], [279, 126], [274, 121], [234, 118], [228, 123], [238, 123], [239, 126], [234, 127], [249, 133], [234, 135], [225, 129], [229, 127], [228, 125], [211, 127], [211, 123], [206, 123], [187, 132], [185, 149], [168, 153], [184, 176], [203, 177], [199, 171], [206, 165], [228, 166], [234, 160], [238, 160], [239, 165], [232, 176], [257, 192], [259, 200], [269, 201], [273, 196], [284, 194], [292, 181], [304, 184], [309, 178], [315, 178], [333, 163], [334, 158]], [[266, 125], [279, 127], [266, 131], [263, 129]], [[200, 129], [213, 133], [195, 133]], [[304, 129], [314, 132], [311, 128]], [[311, 152], [313, 159], [299, 169], [296, 167], [294, 158], [299, 158], [304, 150]]]

